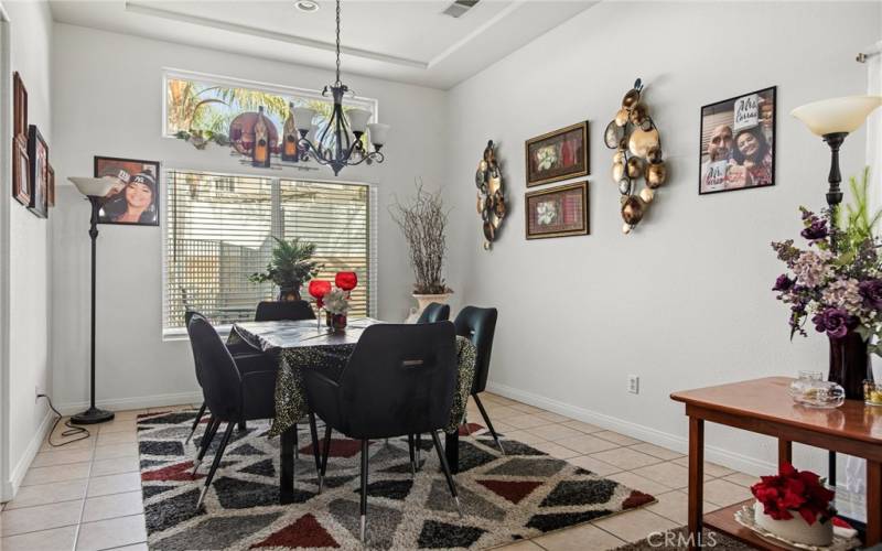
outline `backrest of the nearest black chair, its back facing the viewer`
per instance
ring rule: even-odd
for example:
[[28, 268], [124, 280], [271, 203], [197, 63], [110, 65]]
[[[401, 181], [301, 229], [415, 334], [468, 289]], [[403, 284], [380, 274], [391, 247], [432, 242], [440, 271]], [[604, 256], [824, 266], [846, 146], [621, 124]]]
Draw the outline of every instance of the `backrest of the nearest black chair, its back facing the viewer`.
[[421, 434], [450, 421], [456, 343], [450, 322], [366, 328], [340, 378], [343, 432], [355, 439]]

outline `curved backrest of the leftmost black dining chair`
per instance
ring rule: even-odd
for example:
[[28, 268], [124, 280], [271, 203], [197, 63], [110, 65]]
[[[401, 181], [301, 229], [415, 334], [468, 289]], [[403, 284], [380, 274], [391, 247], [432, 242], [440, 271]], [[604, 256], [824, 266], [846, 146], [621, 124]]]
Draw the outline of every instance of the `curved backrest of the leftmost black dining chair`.
[[241, 413], [241, 376], [236, 360], [204, 317], [194, 315], [186, 331], [208, 410], [224, 421], [238, 420]]

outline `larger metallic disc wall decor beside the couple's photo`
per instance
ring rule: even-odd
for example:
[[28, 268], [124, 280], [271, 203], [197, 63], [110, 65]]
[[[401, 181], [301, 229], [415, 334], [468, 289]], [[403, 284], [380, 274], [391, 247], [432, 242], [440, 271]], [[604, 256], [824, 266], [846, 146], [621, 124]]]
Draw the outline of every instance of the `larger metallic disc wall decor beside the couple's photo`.
[[[662, 159], [662, 137], [643, 101], [642, 91], [643, 83], [637, 78], [603, 132], [606, 147], [616, 150], [612, 176], [622, 194], [621, 213], [625, 220], [622, 231], [625, 234], [639, 224], [655, 198], [655, 190], [667, 179], [667, 166]], [[641, 180], [644, 187], [637, 193]]]

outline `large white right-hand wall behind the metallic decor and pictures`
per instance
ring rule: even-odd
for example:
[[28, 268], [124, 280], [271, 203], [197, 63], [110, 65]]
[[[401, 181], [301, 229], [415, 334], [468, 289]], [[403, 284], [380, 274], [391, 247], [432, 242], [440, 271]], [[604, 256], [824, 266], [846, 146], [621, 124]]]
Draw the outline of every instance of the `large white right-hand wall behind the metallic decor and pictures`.
[[[684, 446], [687, 422], [671, 391], [826, 370], [825, 338], [811, 331], [788, 341], [788, 312], [770, 290], [782, 266], [768, 244], [798, 238], [797, 207], [820, 208], [827, 187], [829, 150], [788, 114], [864, 93], [853, 60], [879, 40], [879, 21], [869, 2], [603, 2], [453, 88], [449, 279], [461, 300], [499, 307], [493, 387]], [[624, 236], [602, 136], [636, 77], [670, 176]], [[776, 185], [699, 196], [701, 106], [773, 85]], [[527, 241], [524, 141], [580, 120], [591, 121], [591, 235]], [[491, 252], [472, 183], [488, 139], [510, 205]], [[863, 163], [861, 130], [845, 143], [845, 174]], [[628, 374], [641, 377], [637, 396], [626, 392]], [[773, 458], [770, 439], [711, 428], [708, 442], [722, 450], [712, 457], [742, 468]]]

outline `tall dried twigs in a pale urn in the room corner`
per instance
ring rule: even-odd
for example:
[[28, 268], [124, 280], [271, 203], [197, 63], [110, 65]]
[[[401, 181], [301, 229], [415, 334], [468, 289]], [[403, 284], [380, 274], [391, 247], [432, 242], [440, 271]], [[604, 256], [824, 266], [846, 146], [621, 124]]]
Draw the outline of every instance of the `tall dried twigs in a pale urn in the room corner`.
[[416, 321], [432, 302], [445, 303], [453, 294], [441, 271], [447, 255], [448, 213], [441, 193], [429, 193], [417, 183], [417, 195], [401, 204], [397, 198], [389, 214], [407, 240], [413, 268], [413, 298], [419, 306], [410, 310], [408, 321]]

